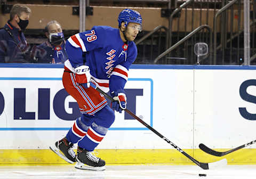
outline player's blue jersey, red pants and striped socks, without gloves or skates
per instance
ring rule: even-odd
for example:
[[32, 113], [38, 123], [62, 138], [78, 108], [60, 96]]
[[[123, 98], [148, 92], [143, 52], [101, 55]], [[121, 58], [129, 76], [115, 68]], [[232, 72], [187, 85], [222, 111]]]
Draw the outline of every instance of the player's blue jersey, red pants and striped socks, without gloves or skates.
[[104, 92], [124, 90], [128, 70], [137, 57], [137, 47], [134, 42], [125, 44], [119, 29], [94, 26], [71, 36], [66, 51], [69, 60], [65, 62], [63, 86], [76, 99], [82, 113], [70, 128], [67, 139], [72, 143], [79, 141], [79, 147], [93, 151], [114, 123], [115, 115], [102, 94], [76, 83], [75, 68], [89, 66], [92, 82]]

